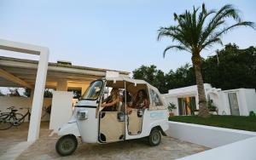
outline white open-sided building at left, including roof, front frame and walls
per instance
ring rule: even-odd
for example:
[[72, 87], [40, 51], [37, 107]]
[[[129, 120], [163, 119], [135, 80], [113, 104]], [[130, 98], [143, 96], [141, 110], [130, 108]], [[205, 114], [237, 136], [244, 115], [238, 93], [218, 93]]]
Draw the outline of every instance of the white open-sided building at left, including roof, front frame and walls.
[[[49, 129], [58, 129], [61, 123], [67, 123], [73, 106], [73, 93], [68, 90], [81, 90], [81, 93], [84, 93], [90, 82], [98, 78], [129, 75], [127, 71], [73, 66], [67, 61], [51, 63], [48, 48], [27, 43], [0, 39], [0, 50], [20, 53], [20, 57], [26, 57], [25, 54], [38, 56], [38, 60], [15, 59], [11, 54], [10, 57], [0, 56], [0, 87], [32, 90], [31, 97], [0, 97], [0, 111], [9, 111], [9, 106], [31, 109], [28, 141], [38, 139], [41, 120], [50, 119]], [[52, 99], [44, 98], [44, 89], [55, 89]], [[44, 106], [50, 104], [51, 116], [44, 117]]]

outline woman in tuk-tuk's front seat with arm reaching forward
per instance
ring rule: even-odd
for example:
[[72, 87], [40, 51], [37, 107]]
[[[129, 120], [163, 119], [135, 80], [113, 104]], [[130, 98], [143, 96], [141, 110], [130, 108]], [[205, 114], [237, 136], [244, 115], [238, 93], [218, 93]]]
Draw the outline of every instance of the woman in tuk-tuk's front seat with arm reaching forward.
[[110, 95], [106, 100], [102, 101], [102, 111], [117, 111], [117, 106], [119, 106], [119, 89], [113, 88]]

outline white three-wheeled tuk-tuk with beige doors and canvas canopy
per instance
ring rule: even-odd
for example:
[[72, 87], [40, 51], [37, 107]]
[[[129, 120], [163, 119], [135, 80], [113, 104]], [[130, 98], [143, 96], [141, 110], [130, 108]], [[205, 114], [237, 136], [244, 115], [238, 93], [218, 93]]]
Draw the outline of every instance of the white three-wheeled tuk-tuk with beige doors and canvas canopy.
[[[122, 100], [116, 111], [102, 111], [102, 100], [113, 88], [119, 89]], [[148, 108], [133, 108], [127, 113], [127, 93], [135, 95], [141, 89], [147, 93]], [[61, 138], [55, 149], [61, 156], [71, 155], [78, 146], [77, 137], [85, 143], [100, 144], [145, 137], [150, 146], [158, 146], [161, 135], [166, 135], [167, 121], [166, 104], [149, 83], [128, 77], [102, 78], [90, 83], [71, 120], [59, 129]]]

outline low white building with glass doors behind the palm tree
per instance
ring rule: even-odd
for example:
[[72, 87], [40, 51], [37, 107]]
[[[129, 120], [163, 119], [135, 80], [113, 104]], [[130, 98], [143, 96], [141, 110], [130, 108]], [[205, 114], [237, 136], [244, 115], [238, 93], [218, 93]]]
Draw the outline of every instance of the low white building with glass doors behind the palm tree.
[[[218, 107], [219, 115], [248, 116], [249, 111], [256, 112], [255, 89], [230, 89], [221, 90], [212, 88], [211, 84], [205, 83], [207, 101]], [[175, 115], [191, 115], [199, 109], [197, 87], [189, 86], [179, 89], [171, 89], [168, 94], [163, 94], [166, 103], [172, 102], [177, 109]]]

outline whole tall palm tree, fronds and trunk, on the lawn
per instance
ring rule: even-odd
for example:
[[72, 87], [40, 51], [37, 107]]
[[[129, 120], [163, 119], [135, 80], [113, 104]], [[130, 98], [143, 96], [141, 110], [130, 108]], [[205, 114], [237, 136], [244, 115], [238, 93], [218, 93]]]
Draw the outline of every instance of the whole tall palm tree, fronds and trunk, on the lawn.
[[[191, 13], [189, 10], [179, 15], [174, 13], [174, 20], [177, 21], [177, 25], [160, 27], [158, 40], [160, 40], [160, 37], [171, 37], [172, 42], [176, 42], [166, 47], [164, 57], [169, 49], [184, 50], [192, 54], [191, 60], [195, 69], [199, 97], [199, 116], [209, 117], [201, 76], [201, 50], [212, 47], [215, 43], [222, 45], [221, 37], [238, 26], [250, 26], [255, 29], [255, 25], [250, 21], [242, 21], [239, 11], [230, 4], [224, 5], [218, 11], [208, 11], [203, 3], [200, 13], [198, 13], [199, 9], [194, 7]], [[234, 20], [235, 23], [227, 26], [226, 21], [228, 19]]]

